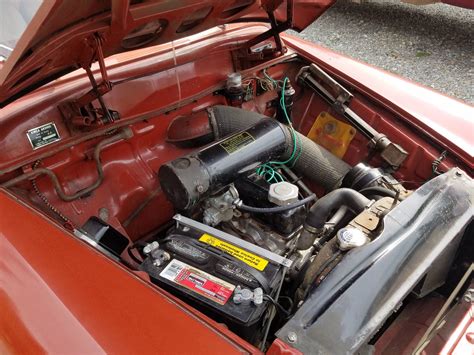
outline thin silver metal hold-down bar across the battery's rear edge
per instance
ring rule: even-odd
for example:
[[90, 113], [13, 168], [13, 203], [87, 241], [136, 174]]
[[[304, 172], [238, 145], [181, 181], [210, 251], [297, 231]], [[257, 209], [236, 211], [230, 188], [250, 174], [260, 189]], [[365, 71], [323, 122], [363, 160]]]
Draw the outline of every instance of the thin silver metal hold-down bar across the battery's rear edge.
[[275, 254], [270, 250], [263, 249], [255, 244], [249, 243], [243, 239], [237, 238], [229, 233], [223, 232], [219, 229], [210, 227], [206, 224], [195, 221], [194, 219], [184, 217], [180, 214], [174, 215], [173, 219], [183, 226], [196, 229], [198, 231], [210, 234], [214, 237], [220, 238], [226, 242], [229, 242], [235, 246], [239, 246], [245, 250], [248, 250], [252, 253], [260, 255], [261, 257], [273, 261], [276, 264], [280, 264], [286, 267], [290, 267], [293, 263], [290, 259], [287, 259], [281, 255]]

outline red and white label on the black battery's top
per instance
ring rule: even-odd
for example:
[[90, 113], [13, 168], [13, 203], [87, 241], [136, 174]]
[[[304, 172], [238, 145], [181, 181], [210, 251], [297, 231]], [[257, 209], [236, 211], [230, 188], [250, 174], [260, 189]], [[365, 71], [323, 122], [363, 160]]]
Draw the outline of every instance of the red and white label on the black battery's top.
[[226, 304], [235, 289], [234, 285], [176, 259], [171, 260], [160, 276], [220, 305]]

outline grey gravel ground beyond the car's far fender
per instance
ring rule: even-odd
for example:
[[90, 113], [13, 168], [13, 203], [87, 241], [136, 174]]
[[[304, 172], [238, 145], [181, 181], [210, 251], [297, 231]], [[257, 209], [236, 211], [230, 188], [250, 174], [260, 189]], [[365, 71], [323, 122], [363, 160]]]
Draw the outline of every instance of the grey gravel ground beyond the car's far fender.
[[339, 0], [297, 35], [474, 104], [474, 10]]

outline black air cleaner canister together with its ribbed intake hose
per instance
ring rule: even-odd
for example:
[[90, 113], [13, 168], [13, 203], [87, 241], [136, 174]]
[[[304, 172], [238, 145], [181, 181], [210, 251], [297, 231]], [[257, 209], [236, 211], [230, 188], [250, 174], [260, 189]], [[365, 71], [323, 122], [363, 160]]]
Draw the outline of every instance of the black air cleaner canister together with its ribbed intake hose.
[[[160, 184], [178, 210], [192, 208], [202, 198], [262, 163], [288, 159], [294, 149], [289, 127], [254, 112], [214, 106], [209, 110], [209, 123], [214, 143], [164, 164], [159, 170]], [[326, 190], [339, 186], [351, 167], [310, 139], [296, 134], [302, 150], [294, 169]]]

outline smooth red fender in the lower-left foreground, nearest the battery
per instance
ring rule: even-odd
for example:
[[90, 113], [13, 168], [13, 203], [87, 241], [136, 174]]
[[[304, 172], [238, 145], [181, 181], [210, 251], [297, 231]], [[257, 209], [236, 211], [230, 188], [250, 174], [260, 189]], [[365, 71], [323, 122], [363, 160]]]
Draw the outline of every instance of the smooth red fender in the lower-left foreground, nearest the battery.
[[0, 192], [0, 352], [258, 351]]

